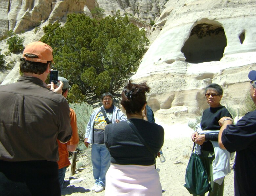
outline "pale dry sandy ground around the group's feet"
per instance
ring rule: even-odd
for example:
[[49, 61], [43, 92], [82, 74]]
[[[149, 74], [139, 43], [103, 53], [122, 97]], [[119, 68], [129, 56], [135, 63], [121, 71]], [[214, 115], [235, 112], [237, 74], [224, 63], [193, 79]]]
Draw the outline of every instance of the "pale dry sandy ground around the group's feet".
[[[185, 183], [187, 163], [193, 147], [190, 139], [192, 130], [188, 128], [186, 124], [176, 124], [172, 126], [162, 124], [162, 126], [165, 129], [165, 142], [162, 151], [166, 161], [161, 163], [159, 159], [157, 159], [156, 166], [160, 169], [159, 175], [163, 196], [189, 196], [189, 192], [183, 185]], [[86, 156], [79, 157], [79, 159], [90, 161]], [[232, 170], [232, 172], [225, 177], [224, 196], [234, 195], [233, 176], [234, 173]], [[71, 178], [84, 178], [84, 180], [78, 184], [69, 184]], [[91, 191], [90, 188], [93, 184], [94, 179], [90, 166], [85, 167], [85, 169], [72, 177], [70, 177], [70, 172], [67, 172], [64, 184], [67, 187], [63, 189], [62, 195], [104, 195], [104, 191], [101, 193]]]

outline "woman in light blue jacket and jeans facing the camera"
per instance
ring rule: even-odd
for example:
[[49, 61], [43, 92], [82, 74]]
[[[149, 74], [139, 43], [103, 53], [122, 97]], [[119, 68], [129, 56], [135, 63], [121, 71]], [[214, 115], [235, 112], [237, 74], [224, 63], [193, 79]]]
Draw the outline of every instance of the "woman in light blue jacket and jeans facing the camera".
[[84, 144], [88, 148], [92, 144], [93, 177], [91, 190], [102, 192], [106, 186], [106, 173], [110, 166], [110, 154], [104, 142], [104, 130], [107, 124], [125, 120], [125, 115], [113, 105], [111, 93], [103, 93], [102, 106], [94, 110], [86, 127]]

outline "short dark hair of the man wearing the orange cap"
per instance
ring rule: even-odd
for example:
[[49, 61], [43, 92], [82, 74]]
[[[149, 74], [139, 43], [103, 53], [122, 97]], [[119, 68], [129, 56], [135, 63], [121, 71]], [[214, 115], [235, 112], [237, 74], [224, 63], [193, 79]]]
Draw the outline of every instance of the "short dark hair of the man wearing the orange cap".
[[[38, 57], [34, 54], [33, 55], [25, 54], [25, 55], [30, 58]], [[41, 63], [41, 62], [27, 61], [24, 58], [22, 58], [20, 61], [20, 71], [22, 73], [26, 72], [26, 73], [42, 74], [47, 69], [48, 63], [50, 63], [50, 66], [51, 66], [52, 61], [47, 61], [47, 63]]]

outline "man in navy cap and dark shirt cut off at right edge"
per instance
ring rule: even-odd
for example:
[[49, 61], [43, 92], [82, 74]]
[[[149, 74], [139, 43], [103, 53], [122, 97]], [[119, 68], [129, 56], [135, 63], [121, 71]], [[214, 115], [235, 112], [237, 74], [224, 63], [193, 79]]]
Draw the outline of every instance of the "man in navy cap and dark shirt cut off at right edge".
[[[250, 96], [256, 104], [256, 71], [250, 71]], [[232, 119], [219, 120], [219, 145], [227, 151], [236, 152], [234, 163], [235, 196], [249, 196], [256, 193], [256, 110], [248, 112], [232, 125]]]

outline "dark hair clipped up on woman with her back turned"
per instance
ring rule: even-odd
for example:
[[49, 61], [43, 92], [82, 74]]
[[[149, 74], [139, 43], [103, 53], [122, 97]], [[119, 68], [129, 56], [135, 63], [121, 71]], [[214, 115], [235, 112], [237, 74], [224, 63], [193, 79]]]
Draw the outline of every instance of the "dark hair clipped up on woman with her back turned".
[[127, 114], [139, 114], [147, 103], [146, 92], [149, 93], [150, 88], [144, 83], [135, 84], [131, 80], [128, 81], [122, 92], [121, 104]]

